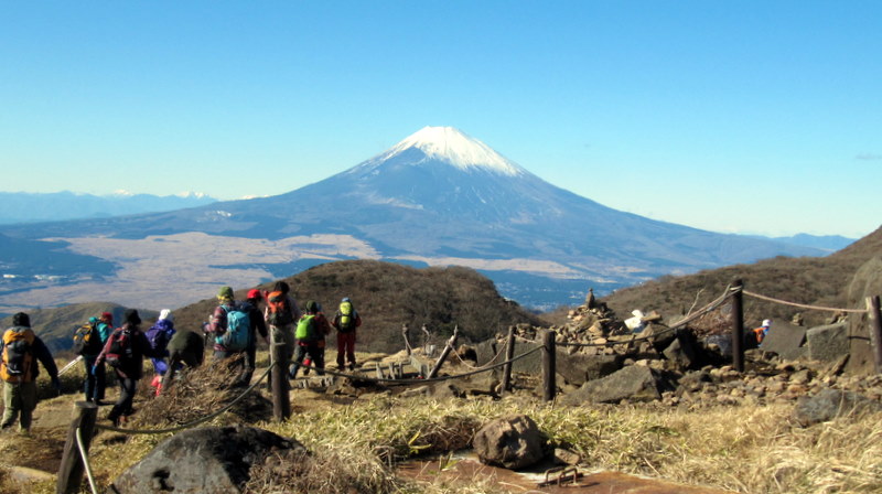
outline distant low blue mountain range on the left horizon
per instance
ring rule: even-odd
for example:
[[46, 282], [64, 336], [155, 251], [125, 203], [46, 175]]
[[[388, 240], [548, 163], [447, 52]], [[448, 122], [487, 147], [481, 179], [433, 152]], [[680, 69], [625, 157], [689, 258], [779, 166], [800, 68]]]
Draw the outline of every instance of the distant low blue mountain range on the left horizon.
[[201, 193], [178, 195], [132, 194], [119, 191], [110, 195], [0, 192], [0, 224], [57, 222], [104, 218], [139, 213], [182, 210], [217, 202]]

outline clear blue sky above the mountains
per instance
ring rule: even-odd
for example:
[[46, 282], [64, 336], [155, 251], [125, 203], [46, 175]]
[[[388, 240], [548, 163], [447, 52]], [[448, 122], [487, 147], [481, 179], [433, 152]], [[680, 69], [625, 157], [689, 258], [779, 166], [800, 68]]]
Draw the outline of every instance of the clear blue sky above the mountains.
[[882, 218], [882, 2], [6, 2], [0, 190], [272, 195], [453, 126], [717, 232]]

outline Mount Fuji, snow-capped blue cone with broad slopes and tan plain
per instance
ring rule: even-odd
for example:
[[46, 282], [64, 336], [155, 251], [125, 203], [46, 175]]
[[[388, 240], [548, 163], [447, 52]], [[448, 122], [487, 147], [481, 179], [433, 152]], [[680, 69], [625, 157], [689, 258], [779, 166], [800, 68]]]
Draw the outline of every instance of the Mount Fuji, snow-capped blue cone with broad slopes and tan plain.
[[[452, 127], [426, 127], [349, 170], [281, 195], [3, 227], [0, 235], [50, 238], [72, 255], [114, 264], [96, 287], [150, 266], [173, 272], [184, 286], [176, 305], [206, 297], [206, 284], [250, 286], [336, 259], [467, 266], [504, 296], [549, 308], [579, 302], [589, 287], [604, 292], [667, 273], [825, 254], [603, 206]], [[39, 299], [36, 290], [0, 293], [0, 308]], [[120, 297], [108, 300], [125, 303]]]

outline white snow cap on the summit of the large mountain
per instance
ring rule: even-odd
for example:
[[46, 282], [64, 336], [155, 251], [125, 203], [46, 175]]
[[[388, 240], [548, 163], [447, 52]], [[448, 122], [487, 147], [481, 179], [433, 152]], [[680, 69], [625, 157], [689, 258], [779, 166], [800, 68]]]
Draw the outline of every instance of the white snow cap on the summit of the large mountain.
[[426, 154], [426, 160], [444, 161], [464, 171], [484, 170], [504, 175], [526, 173], [526, 170], [514, 161], [453, 127], [423, 127], [376, 160], [386, 161], [409, 149], [419, 149]]

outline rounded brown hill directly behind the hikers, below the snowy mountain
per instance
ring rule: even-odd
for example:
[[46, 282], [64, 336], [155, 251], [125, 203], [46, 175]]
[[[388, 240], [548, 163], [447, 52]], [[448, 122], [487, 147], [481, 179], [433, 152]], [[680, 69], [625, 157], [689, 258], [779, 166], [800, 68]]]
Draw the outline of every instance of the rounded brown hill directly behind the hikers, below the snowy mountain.
[[[364, 321], [359, 348], [373, 352], [402, 350], [402, 324], [410, 326], [413, 344], [422, 342], [419, 334], [422, 324], [427, 324], [439, 344], [452, 334], [454, 325], [459, 325], [463, 339], [481, 341], [510, 324], [538, 323], [535, 315], [502, 298], [493, 281], [469, 268], [417, 269], [391, 262], [346, 260], [320, 265], [283, 281], [291, 287], [301, 308], [308, 300], [315, 300], [329, 318], [343, 297], [352, 298]], [[275, 281], [259, 288], [269, 290], [272, 284]], [[237, 299], [241, 299], [252, 287], [233, 288]], [[178, 309], [176, 324], [197, 327], [207, 321], [214, 307], [215, 299], [209, 298]]]

